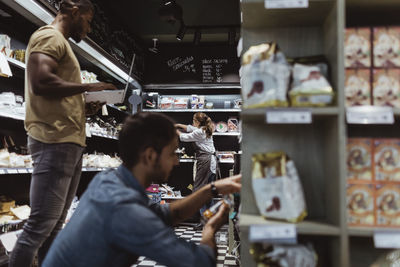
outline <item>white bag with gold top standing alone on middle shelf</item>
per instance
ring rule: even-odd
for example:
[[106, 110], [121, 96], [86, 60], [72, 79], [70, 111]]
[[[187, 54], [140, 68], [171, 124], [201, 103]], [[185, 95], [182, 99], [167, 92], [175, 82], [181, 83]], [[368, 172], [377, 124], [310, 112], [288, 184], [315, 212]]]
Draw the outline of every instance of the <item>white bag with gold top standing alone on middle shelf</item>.
[[283, 152], [254, 154], [252, 161], [253, 192], [261, 215], [302, 221], [306, 202], [294, 162]]

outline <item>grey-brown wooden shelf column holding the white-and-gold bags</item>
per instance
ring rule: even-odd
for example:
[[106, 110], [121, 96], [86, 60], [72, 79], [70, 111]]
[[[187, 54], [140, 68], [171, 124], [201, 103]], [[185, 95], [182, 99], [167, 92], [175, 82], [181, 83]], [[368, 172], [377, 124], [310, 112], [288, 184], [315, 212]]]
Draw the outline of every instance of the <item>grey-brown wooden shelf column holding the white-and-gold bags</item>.
[[[284, 151], [297, 167], [306, 198], [308, 216], [296, 224], [299, 239], [314, 244], [319, 266], [350, 266], [342, 90], [344, 1], [309, 0], [308, 8], [266, 9], [262, 0], [243, 0], [241, 9], [242, 53], [251, 46], [274, 41], [287, 57], [324, 55], [337, 98], [335, 106], [308, 108], [311, 124], [267, 124], [266, 112], [270, 109], [242, 111], [241, 194], [245, 196], [240, 214], [242, 265], [256, 266], [249, 254], [249, 227], [276, 223], [259, 215], [252, 190], [251, 157], [255, 153]], [[287, 110], [301, 109], [288, 107]]]

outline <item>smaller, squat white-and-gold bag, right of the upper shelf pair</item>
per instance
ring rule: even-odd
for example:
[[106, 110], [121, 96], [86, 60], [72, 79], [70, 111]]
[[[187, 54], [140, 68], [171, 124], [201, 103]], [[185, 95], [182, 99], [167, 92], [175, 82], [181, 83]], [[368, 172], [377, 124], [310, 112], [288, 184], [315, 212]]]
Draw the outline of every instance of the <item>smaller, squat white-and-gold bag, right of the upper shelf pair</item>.
[[296, 63], [289, 96], [292, 106], [318, 107], [332, 104], [334, 93], [318, 66]]

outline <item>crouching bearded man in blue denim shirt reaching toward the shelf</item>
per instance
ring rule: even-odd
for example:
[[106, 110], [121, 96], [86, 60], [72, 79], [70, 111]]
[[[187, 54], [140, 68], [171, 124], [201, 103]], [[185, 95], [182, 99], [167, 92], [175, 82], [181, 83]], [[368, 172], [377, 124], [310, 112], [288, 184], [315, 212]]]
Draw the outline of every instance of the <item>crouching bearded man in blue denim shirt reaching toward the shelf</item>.
[[171, 227], [198, 212], [213, 193], [240, 190], [240, 176], [219, 180], [171, 205], [149, 204], [145, 188], [165, 183], [179, 161], [173, 122], [162, 114], [139, 113], [119, 135], [123, 164], [93, 179], [43, 266], [131, 266], [146, 256], [167, 266], [215, 266], [214, 234], [227, 208], [204, 226], [200, 245], [178, 239]]

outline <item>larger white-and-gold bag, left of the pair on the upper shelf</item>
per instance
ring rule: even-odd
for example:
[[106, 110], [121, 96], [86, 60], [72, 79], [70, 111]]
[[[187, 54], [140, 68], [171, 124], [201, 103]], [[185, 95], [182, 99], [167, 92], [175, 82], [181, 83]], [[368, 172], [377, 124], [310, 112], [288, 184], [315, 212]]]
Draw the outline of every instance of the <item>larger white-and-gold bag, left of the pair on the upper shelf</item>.
[[243, 107], [288, 106], [290, 66], [275, 43], [252, 46], [243, 55]]

